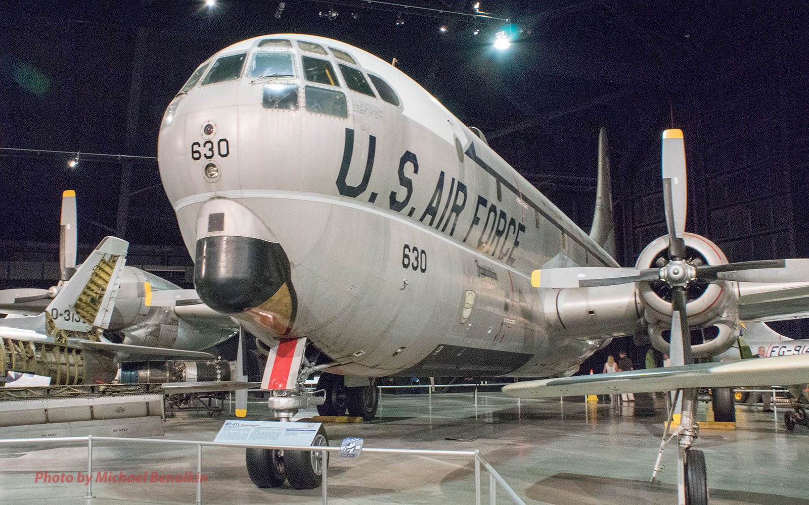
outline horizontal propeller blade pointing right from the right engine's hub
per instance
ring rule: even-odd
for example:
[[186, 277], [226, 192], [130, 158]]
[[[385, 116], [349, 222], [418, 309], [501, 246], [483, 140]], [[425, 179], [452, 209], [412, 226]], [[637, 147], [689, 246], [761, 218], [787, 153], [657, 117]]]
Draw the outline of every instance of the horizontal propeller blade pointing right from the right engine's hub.
[[697, 267], [697, 277], [736, 282], [809, 282], [809, 259], [765, 259]]

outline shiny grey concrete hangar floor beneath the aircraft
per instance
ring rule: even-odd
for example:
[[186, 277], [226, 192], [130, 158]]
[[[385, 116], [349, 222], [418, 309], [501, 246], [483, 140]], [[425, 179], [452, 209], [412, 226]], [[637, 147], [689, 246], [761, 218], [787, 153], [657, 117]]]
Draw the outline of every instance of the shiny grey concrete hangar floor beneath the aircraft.
[[[704, 407], [703, 407], [704, 408]], [[251, 418], [264, 417], [259, 402]], [[780, 410], [780, 406], [779, 406]], [[737, 406], [735, 430], [702, 429], [710, 503], [809, 505], [809, 430], [786, 431], [773, 414]], [[314, 415], [303, 411], [298, 417]], [[662, 396], [637, 395], [616, 412], [611, 405], [508, 398], [502, 393], [384, 394], [370, 423], [328, 424], [332, 445], [359, 436], [366, 447], [480, 449], [525, 503], [557, 505], [676, 503], [676, 450], [663, 457], [661, 484], [649, 478], [665, 417]], [[778, 415], [782, 419], [782, 415]], [[166, 438], [213, 440], [222, 420], [183, 415], [166, 422]], [[0, 503], [194, 503], [193, 483], [94, 483], [95, 499], [75, 483], [36, 482], [36, 473], [76, 475], [87, 469], [86, 448], [0, 448]], [[94, 446], [94, 471], [194, 472], [196, 448], [168, 444]], [[244, 469], [244, 450], [204, 448], [201, 503], [322, 503], [321, 490], [258, 489]], [[489, 477], [482, 474], [482, 503]], [[475, 503], [468, 459], [362, 453], [332, 455], [328, 503]], [[498, 491], [498, 503], [511, 503]]]

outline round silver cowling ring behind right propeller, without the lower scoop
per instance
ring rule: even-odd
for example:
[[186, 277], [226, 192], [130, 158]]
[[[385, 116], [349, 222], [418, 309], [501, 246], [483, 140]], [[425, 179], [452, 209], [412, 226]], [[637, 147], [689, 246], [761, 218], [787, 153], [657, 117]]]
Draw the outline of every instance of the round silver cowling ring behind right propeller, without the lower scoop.
[[[714, 242], [697, 234], [685, 234], [686, 259], [698, 261], [705, 265], [727, 264], [725, 253]], [[655, 264], [661, 257], [667, 259], [668, 236], [657, 238], [637, 257], [637, 269], [657, 267]], [[697, 283], [688, 288], [688, 324], [690, 326], [707, 325], [722, 317], [727, 305], [736, 304], [736, 290], [727, 281], [714, 283]], [[668, 287], [663, 282], [642, 283], [638, 294], [644, 305], [646, 322], [654, 324], [664, 322], [671, 324], [671, 298]]]

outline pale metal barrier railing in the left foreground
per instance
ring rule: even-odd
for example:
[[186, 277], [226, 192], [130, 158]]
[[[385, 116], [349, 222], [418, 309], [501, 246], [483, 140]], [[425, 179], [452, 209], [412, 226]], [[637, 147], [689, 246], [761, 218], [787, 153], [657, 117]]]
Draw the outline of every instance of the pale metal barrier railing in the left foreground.
[[[323, 454], [326, 459], [326, 452], [339, 452], [339, 447], [328, 446], [292, 446], [292, 445], [258, 445], [258, 444], [222, 444], [219, 442], [205, 442], [202, 440], [171, 440], [171, 439], [143, 439], [143, 438], [122, 438], [117, 436], [63, 436], [53, 437], [47, 439], [5, 439], [0, 440], [0, 444], [53, 444], [54, 442], [81, 442], [87, 440], [87, 476], [92, 476], [93, 473], [93, 441], [104, 442], [125, 442], [127, 444], [179, 444], [179, 445], [196, 445], [197, 446], [197, 476], [202, 473], [202, 447], [242, 447], [242, 448], [266, 448], [266, 449], [282, 449], [294, 451], [318, 451]], [[481, 465], [489, 472], [489, 505], [496, 505], [497, 500], [497, 485], [500, 484], [510, 499], [517, 505], [525, 505], [523, 499], [519, 498], [515, 490], [502, 478], [500, 473], [486, 461], [478, 449], [474, 451], [447, 451], [438, 449], [389, 449], [389, 448], [374, 448], [363, 447], [362, 452], [383, 452], [383, 453], [396, 453], [396, 454], [417, 454], [417, 455], [431, 455], [431, 456], [466, 456], [471, 457], [475, 461], [475, 505], [481, 505]], [[328, 464], [320, 465], [322, 469], [323, 480], [321, 483], [321, 495], [324, 505], [328, 503]], [[197, 505], [202, 503], [202, 482], [201, 478], [197, 478]], [[89, 478], [87, 482], [87, 494], [85, 499], [95, 498], [93, 494], [93, 479]]]

